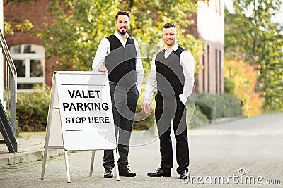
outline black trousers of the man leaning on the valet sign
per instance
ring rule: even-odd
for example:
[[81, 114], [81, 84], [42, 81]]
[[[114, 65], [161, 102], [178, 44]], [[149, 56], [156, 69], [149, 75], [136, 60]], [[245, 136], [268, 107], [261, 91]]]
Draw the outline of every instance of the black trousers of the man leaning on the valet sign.
[[[110, 84], [112, 111], [119, 152], [118, 165], [128, 165], [129, 139], [131, 138], [134, 114], [139, 99], [137, 87], [122, 87]], [[117, 138], [118, 136], [118, 138]], [[112, 150], [105, 150], [103, 157], [104, 168], [114, 168], [114, 156]]]

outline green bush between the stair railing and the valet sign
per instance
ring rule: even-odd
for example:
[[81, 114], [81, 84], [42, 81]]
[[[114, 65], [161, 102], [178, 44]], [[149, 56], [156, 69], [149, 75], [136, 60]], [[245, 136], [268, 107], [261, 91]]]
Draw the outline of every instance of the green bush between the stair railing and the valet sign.
[[18, 92], [16, 120], [23, 132], [45, 131], [50, 101], [50, 89]]

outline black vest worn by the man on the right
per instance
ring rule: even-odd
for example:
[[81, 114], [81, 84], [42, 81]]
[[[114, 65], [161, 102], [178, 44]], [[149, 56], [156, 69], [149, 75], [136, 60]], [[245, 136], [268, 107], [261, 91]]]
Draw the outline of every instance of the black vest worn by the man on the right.
[[162, 96], [171, 96], [173, 94], [182, 94], [185, 83], [183, 68], [180, 64], [180, 54], [185, 49], [178, 46], [176, 51], [165, 58], [165, 50], [156, 54], [156, 80], [158, 92]]

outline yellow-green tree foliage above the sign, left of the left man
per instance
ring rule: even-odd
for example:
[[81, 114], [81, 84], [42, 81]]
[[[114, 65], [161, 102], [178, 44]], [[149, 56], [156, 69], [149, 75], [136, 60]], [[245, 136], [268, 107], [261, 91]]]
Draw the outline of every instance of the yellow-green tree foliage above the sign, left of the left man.
[[[47, 58], [57, 56], [57, 70], [90, 70], [100, 39], [112, 33], [117, 2], [54, 0], [55, 19], [39, 33]], [[109, 11], [110, 10], [110, 11]], [[114, 18], [115, 19], [115, 18]]]

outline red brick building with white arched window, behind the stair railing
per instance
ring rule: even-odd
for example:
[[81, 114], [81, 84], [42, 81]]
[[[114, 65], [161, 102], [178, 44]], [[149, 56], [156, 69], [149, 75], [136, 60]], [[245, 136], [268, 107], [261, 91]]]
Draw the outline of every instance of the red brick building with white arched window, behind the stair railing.
[[[7, 4], [4, 1], [4, 21], [14, 27], [28, 19], [35, 30], [41, 30], [44, 28], [43, 23], [50, 23], [54, 18], [52, 14], [47, 13], [49, 6], [48, 0]], [[31, 89], [35, 84], [51, 86], [52, 65], [56, 60], [45, 58], [45, 49], [40, 37], [14, 30], [13, 35], [5, 35], [5, 38], [18, 72], [18, 89]]]

